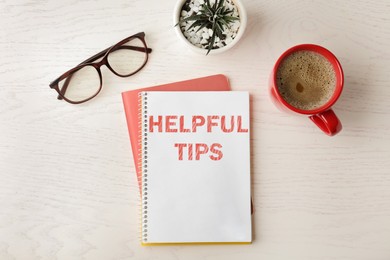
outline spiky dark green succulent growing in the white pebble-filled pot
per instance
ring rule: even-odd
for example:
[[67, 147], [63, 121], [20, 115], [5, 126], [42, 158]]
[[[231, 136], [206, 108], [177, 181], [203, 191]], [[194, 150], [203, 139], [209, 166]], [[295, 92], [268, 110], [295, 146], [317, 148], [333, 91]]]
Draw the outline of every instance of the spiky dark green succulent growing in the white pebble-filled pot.
[[215, 0], [215, 3], [211, 5], [210, 0], [205, 0], [205, 3], [200, 5], [198, 13], [179, 20], [175, 25], [178, 26], [183, 22], [194, 21], [188, 30], [195, 27], [198, 27], [196, 32], [203, 28], [211, 29], [213, 33], [208, 42], [206, 55], [215, 48], [215, 37], [218, 36], [221, 40], [224, 40], [226, 38], [223, 35], [225, 28], [230, 28], [231, 23], [239, 20], [239, 18], [231, 16], [233, 10], [229, 10], [224, 5], [224, 2], [225, 0]]

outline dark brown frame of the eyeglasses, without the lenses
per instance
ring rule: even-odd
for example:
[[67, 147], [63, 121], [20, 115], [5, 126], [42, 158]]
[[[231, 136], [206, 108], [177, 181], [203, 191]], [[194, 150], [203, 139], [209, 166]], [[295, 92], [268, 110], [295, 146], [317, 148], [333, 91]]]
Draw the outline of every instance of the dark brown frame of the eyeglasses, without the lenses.
[[[126, 46], [126, 45], [123, 45], [127, 42], [129, 42], [130, 40], [134, 39], [134, 38], [138, 38], [139, 40], [141, 40], [141, 42], [143, 43], [144, 47], [138, 47], [138, 46]], [[108, 55], [113, 52], [113, 51], [116, 51], [116, 50], [119, 50], [119, 49], [130, 49], [130, 50], [135, 50], [135, 51], [142, 51], [142, 52], [145, 52], [145, 60], [144, 60], [144, 63], [135, 71], [129, 73], [129, 74], [126, 74], [126, 75], [121, 75], [119, 73], [117, 73], [111, 66], [110, 66], [110, 63], [108, 62]], [[66, 102], [68, 103], [71, 103], [71, 104], [81, 104], [81, 103], [84, 103], [84, 102], [87, 102], [91, 99], [93, 99], [94, 97], [96, 97], [100, 91], [102, 90], [103, 88], [103, 77], [102, 77], [102, 72], [100, 71], [100, 67], [102, 67], [103, 65], [105, 65], [112, 73], [114, 73], [115, 75], [117, 75], [118, 77], [122, 77], [122, 78], [125, 78], [125, 77], [130, 77], [134, 74], [136, 74], [137, 72], [139, 72], [145, 65], [146, 63], [148, 62], [148, 54], [152, 52], [152, 49], [151, 48], [148, 48], [146, 42], [145, 42], [145, 33], [144, 32], [139, 32], [137, 34], [134, 34], [132, 36], [129, 36], [121, 41], [119, 41], [118, 43], [112, 45], [111, 47], [108, 47], [107, 49], [104, 49], [102, 50], [101, 52], [93, 55], [92, 57], [86, 59], [85, 61], [81, 62], [79, 65], [77, 65], [76, 67], [68, 70], [67, 72], [65, 72], [64, 74], [62, 74], [61, 76], [59, 76], [58, 78], [56, 78], [55, 80], [53, 80], [49, 86], [51, 89], [54, 89], [57, 91], [58, 93], [58, 96], [57, 96], [57, 99], [59, 100], [65, 100]], [[94, 62], [96, 61], [97, 59], [100, 59], [102, 58], [101, 61], [99, 62]], [[98, 75], [99, 75], [99, 80], [100, 80], [100, 86], [99, 86], [99, 89], [96, 91], [95, 94], [93, 94], [91, 97], [89, 98], [86, 98], [84, 100], [80, 100], [80, 101], [73, 101], [73, 100], [70, 100], [68, 99], [67, 97], [65, 97], [65, 92], [66, 92], [66, 89], [69, 85], [69, 82], [70, 80], [72, 79], [72, 76], [73, 76], [73, 73], [77, 72], [78, 70], [82, 69], [83, 67], [86, 67], [86, 66], [92, 66], [96, 69]], [[62, 86], [62, 88], [60, 89], [58, 84], [59, 82], [61, 82], [62, 80], [65, 79], [65, 82], [64, 82], [64, 85]]]

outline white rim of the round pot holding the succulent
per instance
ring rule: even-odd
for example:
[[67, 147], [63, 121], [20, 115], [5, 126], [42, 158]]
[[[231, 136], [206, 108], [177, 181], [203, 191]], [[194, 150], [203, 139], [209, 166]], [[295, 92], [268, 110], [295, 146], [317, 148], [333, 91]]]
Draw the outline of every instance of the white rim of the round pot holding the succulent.
[[[246, 10], [245, 10], [244, 5], [242, 4], [242, 2], [240, 0], [232, 0], [232, 1], [234, 2], [234, 5], [237, 7], [238, 14], [240, 15], [240, 27], [238, 29], [237, 35], [233, 39], [233, 41], [231, 41], [226, 46], [218, 48], [218, 49], [212, 49], [210, 51], [209, 55], [218, 54], [218, 53], [222, 53], [222, 52], [225, 52], [225, 51], [229, 50], [234, 45], [236, 45], [236, 43], [241, 39], [242, 35], [244, 34], [244, 31], [245, 31], [245, 28], [246, 28], [246, 23], [247, 23], [247, 20], [248, 20], [248, 16], [246, 14]], [[186, 2], [186, 0], [178, 0], [176, 2], [175, 10], [173, 12], [173, 25], [175, 25], [175, 24], [177, 24], [179, 22], [181, 9], [182, 9], [182, 7], [183, 7], [185, 2]], [[175, 26], [174, 28], [175, 28], [175, 31], [176, 31], [176, 35], [179, 37], [179, 39], [188, 48], [190, 48], [191, 50], [193, 50], [196, 53], [206, 55], [207, 49], [203, 49], [203, 48], [197, 47], [197, 46], [193, 45], [191, 42], [189, 42], [186, 39], [186, 37], [184, 37], [183, 32], [181, 31], [179, 25]]]

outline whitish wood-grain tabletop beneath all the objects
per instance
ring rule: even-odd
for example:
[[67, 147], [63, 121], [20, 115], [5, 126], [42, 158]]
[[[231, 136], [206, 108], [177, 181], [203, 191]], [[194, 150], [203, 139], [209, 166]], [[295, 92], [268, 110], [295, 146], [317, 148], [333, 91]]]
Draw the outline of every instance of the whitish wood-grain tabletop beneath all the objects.
[[[390, 259], [389, 1], [244, 1], [242, 41], [199, 56], [169, 1], [0, 1], [0, 259]], [[137, 75], [104, 71], [83, 105], [51, 80], [129, 35], [153, 48]], [[270, 101], [278, 56], [299, 43], [345, 72], [325, 136]], [[120, 93], [223, 73], [252, 96], [254, 242], [141, 247], [139, 194]]]

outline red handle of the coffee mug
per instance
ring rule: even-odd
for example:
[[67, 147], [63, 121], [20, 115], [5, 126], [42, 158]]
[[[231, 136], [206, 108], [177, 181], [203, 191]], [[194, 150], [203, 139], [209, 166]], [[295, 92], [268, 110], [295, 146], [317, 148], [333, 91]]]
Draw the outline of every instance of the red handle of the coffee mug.
[[318, 113], [316, 115], [309, 116], [311, 121], [314, 122], [325, 134], [333, 136], [341, 131], [343, 128], [340, 120], [332, 109]]

